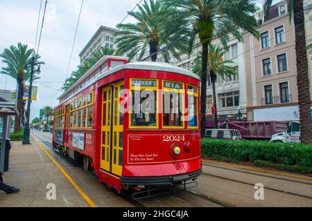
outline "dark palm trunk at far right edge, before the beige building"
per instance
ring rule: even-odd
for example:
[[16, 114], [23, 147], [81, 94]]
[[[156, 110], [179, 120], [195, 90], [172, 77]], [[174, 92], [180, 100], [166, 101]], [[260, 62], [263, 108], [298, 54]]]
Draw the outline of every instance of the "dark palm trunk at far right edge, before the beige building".
[[[297, 59], [297, 91], [300, 111], [300, 141], [312, 143], [311, 132], [311, 95], [309, 84], [308, 58], [306, 56], [306, 33], [304, 30], [304, 7], [302, 0], [288, 0], [288, 14], [294, 20], [295, 50]], [[270, 12], [272, 0], [266, 0], [264, 10]]]

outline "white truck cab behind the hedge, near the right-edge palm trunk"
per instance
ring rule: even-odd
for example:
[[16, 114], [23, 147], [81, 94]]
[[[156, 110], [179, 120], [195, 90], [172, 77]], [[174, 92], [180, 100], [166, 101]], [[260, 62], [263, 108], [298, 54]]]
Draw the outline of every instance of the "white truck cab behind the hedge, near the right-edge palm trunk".
[[300, 143], [300, 122], [291, 122], [287, 131], [272, 135], [270, 142], [295, 142]]

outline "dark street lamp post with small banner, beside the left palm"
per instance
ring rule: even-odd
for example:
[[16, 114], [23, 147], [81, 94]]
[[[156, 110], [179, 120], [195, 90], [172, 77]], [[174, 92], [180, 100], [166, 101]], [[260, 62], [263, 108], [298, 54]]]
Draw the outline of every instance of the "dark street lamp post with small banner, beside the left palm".
[[30, 79], [30, 83], [29, 83], [29, 88], [28, 88], [28, 101], [27, 101], [27, 110], [26, 110], [26, 125], [24, 128], [24, 137], [23, 137], [23, 142], [22, 144], [31, 144], [30, 142], [30, 135], [31, 135], [31, 129], [29, 128], [29, 120], [31, 118], [31, 93], [33, 90], [33, 72], [34, 72], [34, 68], [35, 66], [38, 67], [37, 72], [40, 72], [40, 66], [36, 64], [35, 62], [35, 57], [36, 55], [33, 55], [33, 57], [31, 58], [31, 79]]

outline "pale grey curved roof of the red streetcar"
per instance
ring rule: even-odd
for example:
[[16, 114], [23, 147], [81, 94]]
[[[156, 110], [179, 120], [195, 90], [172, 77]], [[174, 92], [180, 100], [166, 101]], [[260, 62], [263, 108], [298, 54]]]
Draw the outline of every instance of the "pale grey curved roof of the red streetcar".
[[[108, 58], [108, 56], [104, 56], [105, 59]], [[110, 56], [111, 57], [111, 56]], [[120, 59], [121, 57], [119, 57]], [[122, 57], [124, 58], [124, 57]], [[101, 60], [100, 60], [101, 61]], [[100, 61], [98, 61], [98, 63], [96, 63], [95, 66], [98, 66], [98, 64], [100, 63]], [[102, 63], [102, 62], [101, 62]], [[168, 64], [168, 63], [164, 63], [164, 62], [155, 62], [155, 61], [137, 61], [137, 62], [131, 62], [128, 64], [121, 64], [119, 66], [116, 66], [115, 68], [112, 68], [110, 70], [106, 70], [105, 72], [101, 73], [101, 75], [98, 75], [98, 77], [94, 78], [92, 81], [90, 81], [88, 84], [86, 84], [85, 86], [83, 86], [83, 88], [80, 88], [76, 93], [73, 93], [73, 95], [67, 97], [66, 100], [64, 100], [63, 102], [60, 102], [60, 104], [58, 104], [57, 106], [55, 106], [55, 108], [57, 108], [58, 106], [60, 106], [61, 104], [63, 104], [64, 102], [66, 102], [68, 99], [71, 99], [71, 97], [74, 97], [76, 95], [78, 95], [78, 93], [82, 92], [83, 90], [85, 90], [85, 88], [88, 88], [90, 85], [94, 84], [96, 81], [107, 77], [108, 75], [112, 75], [113, 73], [116, 73], [120, 70], [126, 70], [126, 69], [132, 69], [132, 70], [156, 70], [156, 71], [164, 71], [164, 72], [171, 72], [171, 73], [177, 73], [180, 75], [186, 75], [189, 77], [193, 77], [195, 79], [200, 79], [200, 77], [198, 75], [196, 75], [195, 73], [192, 73], [191, 71], [184, 69], [184, 68], [180, 68], [178, 66], [175, 66], [173, 64]], [[87, 73], [85, 73], [85, 75], [83, 75], [83, 77], [81, 77], [78, 81], [76, 81], [75, 84], [73, 84], [67, 91], [65, 91], [64, 93], [62, 93], [62, 95], [60, 95], [60, 97], [58, 97], [58, 99], [64, 97], [64, 95], [66, 95], [67, 93], [69, 93], [69, 91], [74, 88], [76, 85], [78, 85], [81, 81], [81, 79], [85, 78], [86, 76], [88, 76], [90, 73], [92, 73], [94, 70], [96, 70], [96, 68], [92, 67], [89, 71], [87, 71]]]

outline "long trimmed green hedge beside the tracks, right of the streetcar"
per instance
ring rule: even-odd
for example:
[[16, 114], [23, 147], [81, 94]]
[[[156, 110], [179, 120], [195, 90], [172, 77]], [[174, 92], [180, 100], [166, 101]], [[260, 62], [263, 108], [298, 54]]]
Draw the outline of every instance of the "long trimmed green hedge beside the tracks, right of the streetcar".
[[312, 167], [312, 145], [252, 140], [201, 140], [202, 155], [234, 161], [265, 160], [274, 164]]

